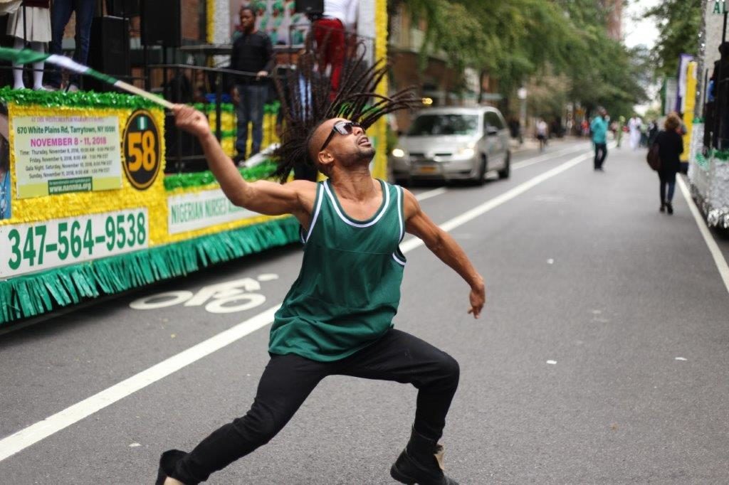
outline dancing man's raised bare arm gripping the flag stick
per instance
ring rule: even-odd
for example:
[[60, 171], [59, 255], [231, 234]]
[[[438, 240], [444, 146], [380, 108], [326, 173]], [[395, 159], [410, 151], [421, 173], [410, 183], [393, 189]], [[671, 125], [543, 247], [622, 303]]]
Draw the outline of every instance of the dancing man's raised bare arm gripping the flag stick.
[[310, 181], [292, 181], [284, 185], [270, 181], [246, 182], [211, 132], [203, 113], [179, 104], [172, 112], [177, 127], [198, 137], [208, 166], [230, 202], [268, 216], [293, 214], [308, 224], [316, 184]]

